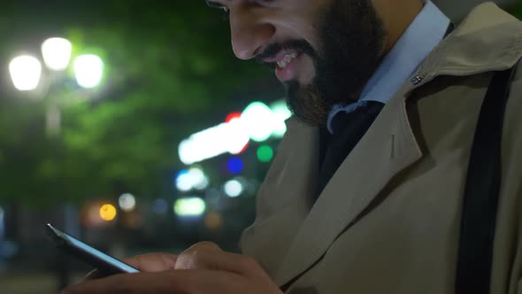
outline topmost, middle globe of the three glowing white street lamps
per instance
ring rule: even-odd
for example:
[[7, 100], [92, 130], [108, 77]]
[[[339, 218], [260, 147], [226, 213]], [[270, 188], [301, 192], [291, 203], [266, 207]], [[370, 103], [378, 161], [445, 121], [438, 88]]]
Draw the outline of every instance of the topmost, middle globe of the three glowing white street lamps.
[[73, 45], [64, 38], [50, 38], [42, 43], [45, 65], [53, 71], [63, 71], [69, 66]]

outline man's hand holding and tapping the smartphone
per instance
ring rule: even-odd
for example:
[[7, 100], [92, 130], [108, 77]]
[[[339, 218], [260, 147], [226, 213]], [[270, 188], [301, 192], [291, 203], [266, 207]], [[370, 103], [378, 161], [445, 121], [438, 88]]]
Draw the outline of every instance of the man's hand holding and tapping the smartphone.
[[63, 293], [282, 293], [254, 259], [222, 251], [217, 245], [207, 242], [196, 244], [177, 257], [154, 253], [125, 261], [142, 273], [111, 275], [82, 282]]

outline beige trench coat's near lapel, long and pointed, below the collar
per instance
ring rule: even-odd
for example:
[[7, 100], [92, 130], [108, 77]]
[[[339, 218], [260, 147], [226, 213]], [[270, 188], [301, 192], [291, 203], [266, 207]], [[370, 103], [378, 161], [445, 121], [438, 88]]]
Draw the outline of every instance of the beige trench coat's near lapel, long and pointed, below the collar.
[[[303, 221], [275, 281], [283, 285], [311, 267], [388, 181], [421, 156], [404, 99], [394, 99], [326, 185]], [[372, 183], [365, 184], [369, 181]]]

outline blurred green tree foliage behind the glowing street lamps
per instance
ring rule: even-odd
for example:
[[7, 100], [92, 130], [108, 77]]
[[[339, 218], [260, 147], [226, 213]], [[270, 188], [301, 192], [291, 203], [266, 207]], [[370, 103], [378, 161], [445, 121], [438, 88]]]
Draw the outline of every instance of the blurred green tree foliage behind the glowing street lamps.
[[[5, 35], [0, 57], [7, 60], [16, 44], [37, 51], [45, 37], [65, 35], [74, 55], [104, 59], [104, 81], [99, 89], [82, 90], [67, 73], [36, 103], [22, 99], [29, 94], [2, 92], [0, 200], [43, 204], [168, 190], [162, 185], [180, 166], [180, 140], [247, 103], [234, 97], [266, 79], [234, 58], [227, 23], [203, 1], [53, 4], [42, 5], [46, 12], [5, 4], [9, 13], [0, 17], [0, 32], [17, 25], [19, 31]], [[58, 138], [47, 137], [43, 128], [51, 100], [62, 109]]]

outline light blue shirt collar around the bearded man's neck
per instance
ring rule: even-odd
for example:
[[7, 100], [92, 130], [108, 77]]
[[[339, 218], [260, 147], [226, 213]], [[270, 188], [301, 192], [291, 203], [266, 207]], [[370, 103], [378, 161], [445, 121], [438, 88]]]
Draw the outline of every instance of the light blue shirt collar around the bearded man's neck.
[[[413, 19], [410, 27], [395, 43], [392, 50], [382, 60], [363, 89], [359, 102], [386, 102], [401, 88], [415, 72], [422, 61], [441, 43], [449, 27], [449, 19], [431, 1], [427, 0], [424, 7]], [[327, 128], [334, 116], [339, 112], [351, 112], [357, 108], [357, 103], [343, 106], [336, 104], [328, 115]]]

